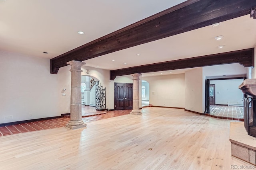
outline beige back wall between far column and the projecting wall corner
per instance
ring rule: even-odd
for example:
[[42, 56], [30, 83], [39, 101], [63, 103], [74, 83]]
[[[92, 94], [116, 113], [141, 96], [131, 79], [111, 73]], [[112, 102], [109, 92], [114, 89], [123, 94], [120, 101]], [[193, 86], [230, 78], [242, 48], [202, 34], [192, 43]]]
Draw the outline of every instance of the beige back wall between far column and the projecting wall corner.
[[185, 75], [142, 77], [149, 83], [149, 103], [153, 106], [182, 107], [185, 102]]

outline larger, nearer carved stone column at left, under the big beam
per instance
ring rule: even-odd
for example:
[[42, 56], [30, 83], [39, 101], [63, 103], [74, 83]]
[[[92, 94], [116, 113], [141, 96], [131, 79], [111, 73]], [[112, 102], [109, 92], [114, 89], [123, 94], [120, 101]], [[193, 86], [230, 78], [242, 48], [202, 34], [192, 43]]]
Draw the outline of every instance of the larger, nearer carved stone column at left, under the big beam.
[[82, 120], [82, 104], [81, 104], [81, 66], [85, 63], [81, 61], [67, 62], [71, 66], [71, 99], [70, 99], [70, 121], [66, 127], [70, 129], [78, 129], [86, 127]]

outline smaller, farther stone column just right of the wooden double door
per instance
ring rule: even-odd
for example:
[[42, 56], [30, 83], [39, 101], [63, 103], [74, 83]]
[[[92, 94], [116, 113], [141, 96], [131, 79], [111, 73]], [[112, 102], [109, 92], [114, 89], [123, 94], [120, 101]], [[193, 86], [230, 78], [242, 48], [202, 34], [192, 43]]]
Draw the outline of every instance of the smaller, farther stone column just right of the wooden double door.
[[139, 80], [140, 80], [140, 73], [131, 74], [133, 76], [133, 95], [132, 95], [132, 112], [130, 114], [133, 115], [141, 115], [140, 112], [140, 87], [139, 87]]

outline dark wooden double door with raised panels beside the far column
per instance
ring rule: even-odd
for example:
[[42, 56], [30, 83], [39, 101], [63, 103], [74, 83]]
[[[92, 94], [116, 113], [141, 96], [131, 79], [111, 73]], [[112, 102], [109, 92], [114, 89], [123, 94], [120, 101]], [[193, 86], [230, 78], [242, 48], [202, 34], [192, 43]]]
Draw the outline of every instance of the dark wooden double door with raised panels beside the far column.
[[115, 83], [115, 110], [132, 109], [132, 83]]

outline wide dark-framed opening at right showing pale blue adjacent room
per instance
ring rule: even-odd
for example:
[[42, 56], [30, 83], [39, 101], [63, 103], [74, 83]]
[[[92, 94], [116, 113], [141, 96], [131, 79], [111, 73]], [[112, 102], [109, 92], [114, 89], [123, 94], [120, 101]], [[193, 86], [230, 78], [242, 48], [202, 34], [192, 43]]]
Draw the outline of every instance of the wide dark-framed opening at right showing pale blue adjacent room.
[[238, 86], [244, 77], [206, 80], [206, 112], [217, 117], [243, 119], [244, 94]]

